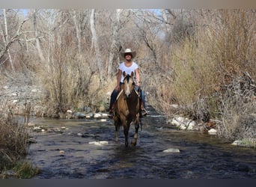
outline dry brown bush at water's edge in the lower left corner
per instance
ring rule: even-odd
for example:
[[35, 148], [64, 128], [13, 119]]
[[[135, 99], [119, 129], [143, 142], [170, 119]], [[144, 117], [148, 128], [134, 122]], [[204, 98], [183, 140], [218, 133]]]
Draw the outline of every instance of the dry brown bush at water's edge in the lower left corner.
[[14, 177], [30, 178], [38, 169], [28, 162], [20, 162], [28, 150], [28, 129], [13, 116], [10, 105], [0, 104], [0, 178], [8, 177], [4, 172], [7, 170], [15, 171]]

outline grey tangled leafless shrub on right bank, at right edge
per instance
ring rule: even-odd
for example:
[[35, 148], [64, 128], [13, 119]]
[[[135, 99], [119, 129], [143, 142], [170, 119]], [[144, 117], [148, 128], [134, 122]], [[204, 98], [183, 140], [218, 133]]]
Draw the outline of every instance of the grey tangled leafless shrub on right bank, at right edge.
[[222, 123], [219, 135], [232, 141], [247, 139], [256, 142], [256, 87], [249, 74], [237, 77], [222, 95]]

